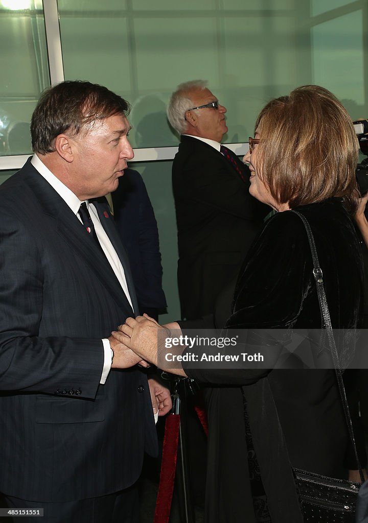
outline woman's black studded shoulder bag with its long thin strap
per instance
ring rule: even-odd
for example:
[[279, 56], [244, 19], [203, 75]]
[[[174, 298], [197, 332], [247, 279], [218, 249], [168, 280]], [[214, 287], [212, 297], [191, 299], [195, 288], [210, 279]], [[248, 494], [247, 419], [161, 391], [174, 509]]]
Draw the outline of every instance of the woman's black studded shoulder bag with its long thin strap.
[[[341, 396], [342, 406], [347, 422], [349, 436], [353, 445], [356, 462], [362, 482], [364, 476], [356, 451], [353, 426], [342, 380], [342, 372], [339, 364], [339, 357], [336, 344], [333, 338], [330, 313], [328, 310], [326, 292], [324, 288], [323, 274], [319, 266], [316, 245], [313, 234], [310, 230], [307, 219], [297, 211], [294, 212], [303, 221], [310, 245], [313, 258], [313, 274], [316, 280], [318, 301], [321, 311], [322, 328], [326, 329], [328, 343], [331, 349], [333, 366], [336, 372], [337, 383]], [[313, 472], [294, 469], [295, 481], [302, 501], [304, 521], [306, 523], [354, 523], [355, 503], [358, 495], [360, 483], [353, 483], [347, 480], [334, 479], [333, 477], [322, 476]]]

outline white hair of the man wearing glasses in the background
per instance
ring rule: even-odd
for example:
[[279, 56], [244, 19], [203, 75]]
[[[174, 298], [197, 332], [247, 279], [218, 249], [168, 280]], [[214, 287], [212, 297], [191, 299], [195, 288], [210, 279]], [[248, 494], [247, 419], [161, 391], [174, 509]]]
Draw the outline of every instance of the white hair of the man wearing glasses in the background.
[[168, 120], [179, 134], [183, 134], [186, 131], [185, 113], [193, 106], [193, 101], [189, 98], [190, 92], [195, 89], [205, 89], [207, 84], [207, 80], [184, 82], [178, 85], [171, 95], [168, 107]]

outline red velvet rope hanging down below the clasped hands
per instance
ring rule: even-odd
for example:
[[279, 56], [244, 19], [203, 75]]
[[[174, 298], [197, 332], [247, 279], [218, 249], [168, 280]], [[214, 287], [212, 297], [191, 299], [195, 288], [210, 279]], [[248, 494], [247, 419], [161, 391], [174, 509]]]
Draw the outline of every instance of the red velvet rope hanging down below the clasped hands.
[[159, 492], [157, 494], [153, 523], [169, 522], [171, 501], [174, 491], [177, 442], [179, 441], [179, 425], [179, 414], [169, 414], [166, 416]]

